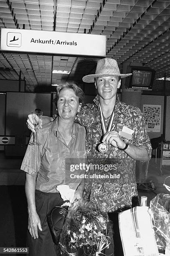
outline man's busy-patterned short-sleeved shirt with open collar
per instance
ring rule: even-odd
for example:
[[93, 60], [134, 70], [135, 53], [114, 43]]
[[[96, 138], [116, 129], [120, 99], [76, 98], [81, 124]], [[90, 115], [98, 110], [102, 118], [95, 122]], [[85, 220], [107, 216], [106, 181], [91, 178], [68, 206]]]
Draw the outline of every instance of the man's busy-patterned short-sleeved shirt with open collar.
[[[99, 95], [94, 99], [93, 104], [86, 104], [77, 114], [79, 123], [86, 128], [86, 151], [88, 161], [91, 164], [98, 164], [92, 168], [85, 179], [85, 196], [96, 202], [104, 212], [116, 212], [126, 207], [131, 207], [133, 197], [137, 196], [135, 177], [135, 160], [112, 145], [108, 151], [101, 153], [97, 146], [103, 135], [99, 115]], [[106, 125], [109, 118], [105, 119]], [[114, 108], [114, 119], [111, 131], [122, 131], [123, 127], [134, 131], [131, 139], [121, 137], [125, 142], [134, 146], [142, 146], [147, 149], [148, 157], [151, 157], [150, 139], [145, 129], [145, 120], [139, 108], [127, 105], [119, 101], [117, 97]], [[101, 164], [111, 164], [115, 168], [105, 172]], [[95, 166], [95, 165], [94, 165]], [[94, 174], [94, 175], [90, 175]], [[108, 177], [97, 177], [99, 174], [108, 174]], [[115, 174], [115, 175], [113, 175]]]

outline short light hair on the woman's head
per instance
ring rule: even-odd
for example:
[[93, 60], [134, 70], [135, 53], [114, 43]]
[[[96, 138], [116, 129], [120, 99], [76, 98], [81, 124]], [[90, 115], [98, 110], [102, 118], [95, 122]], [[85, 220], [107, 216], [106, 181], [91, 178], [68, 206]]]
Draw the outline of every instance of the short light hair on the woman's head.
[[79, 85], [75, 84], [74, 82], [66, 82], [64, 84], [59, 84], [56, 88], [57, 93], [56, 93], [56, 97], [53, 100], [53, 102], [57, 105], [58, 102], [58, 97], [59, 97], [59, 93], [62, 89], [64, 88], [68, 88], [68, 89], [73, 89], [75, 95], [79, 98], [79, 103], [82, 103], [82, 105], [84, 104], [84, 92], [83, 90], [79, 87]]

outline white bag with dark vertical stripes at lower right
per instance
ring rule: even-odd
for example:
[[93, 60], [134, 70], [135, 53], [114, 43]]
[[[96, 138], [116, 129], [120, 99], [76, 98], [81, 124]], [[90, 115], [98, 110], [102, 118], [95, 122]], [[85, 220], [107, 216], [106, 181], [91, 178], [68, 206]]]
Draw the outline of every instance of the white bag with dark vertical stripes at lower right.
[[119, 213], [119, 230], [124, 256], [158, 256], [152, 211], [136, 206]]

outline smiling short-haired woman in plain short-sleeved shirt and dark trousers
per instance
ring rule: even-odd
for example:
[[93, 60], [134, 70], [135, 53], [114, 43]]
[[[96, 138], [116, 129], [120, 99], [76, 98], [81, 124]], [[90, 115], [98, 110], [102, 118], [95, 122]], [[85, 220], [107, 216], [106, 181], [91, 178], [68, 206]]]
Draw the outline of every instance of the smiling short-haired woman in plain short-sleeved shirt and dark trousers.
[[[83, 102], [84, 92], [79, 86], [74, 83], [59, 85], [55, 98], [58, 116], [38, 131], [41, 146], [28, 145], [25, 153], [21, 169], [26, 172], [30, 256], [60, 255], [46, 219], [54, 206], [64, 202], [57, 186], [67, 185], [73, 189], [72, 201], [82, 197], [84, 182], [80, 177], [70, 177], [69, 165], [75, 158], [86, 161], [86, 131], [74, 123]], [[80, 172], [83, 173], [81, 170], [78, 174]]]

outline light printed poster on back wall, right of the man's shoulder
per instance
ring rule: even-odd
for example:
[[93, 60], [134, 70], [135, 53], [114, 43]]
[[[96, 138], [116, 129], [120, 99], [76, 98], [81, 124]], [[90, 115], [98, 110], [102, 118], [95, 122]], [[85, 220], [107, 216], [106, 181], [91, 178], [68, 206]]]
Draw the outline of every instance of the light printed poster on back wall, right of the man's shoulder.
[[143, 105], [145, 127], [148, 132], [160, 133], [161, 105]]

